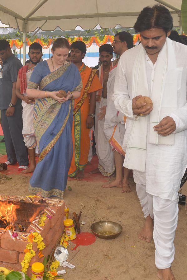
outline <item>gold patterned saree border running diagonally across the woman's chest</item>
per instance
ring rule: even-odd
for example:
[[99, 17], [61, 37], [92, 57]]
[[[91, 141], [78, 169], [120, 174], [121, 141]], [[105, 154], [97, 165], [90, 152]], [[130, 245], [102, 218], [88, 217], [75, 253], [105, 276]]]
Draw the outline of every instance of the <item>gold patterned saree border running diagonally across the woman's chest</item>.
[[60, 68], [56, 69], [53, 72], [50, 72], [47, 76], [45, 76], [40, 83], [40, 90], [42, 91], [43, 88], [48, 85], [49, 83], [55, 81], [56, 79], [60, 78], [65, 71], [67, 70], [68, 67], [70, 67], [71, 62], [61, 66]]

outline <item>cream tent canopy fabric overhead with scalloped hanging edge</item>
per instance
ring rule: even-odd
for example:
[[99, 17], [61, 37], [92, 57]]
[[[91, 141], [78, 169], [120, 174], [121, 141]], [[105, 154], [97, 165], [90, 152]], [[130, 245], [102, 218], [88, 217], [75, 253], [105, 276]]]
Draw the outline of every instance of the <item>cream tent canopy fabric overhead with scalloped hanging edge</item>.
[[[181, 9], [182, 0], [166, 2]], [[57, 26], [62, 30], [72, 30], [78, 25], [83, 29], [92, 29], [97, 24], [103, 28], [113, 28], [117, 24], [133, 27], [140, 11], [156, 3], [154, 0], [1, 0], [0, 20], [13, 28], [17, 28], [18, 24], [23, 31], [26, 19], [27, 32], [36, 30], [45, 22], [42, 30], [55, 30]], [[177, 14], [172, 13], [174, 26], [179, 26]]]

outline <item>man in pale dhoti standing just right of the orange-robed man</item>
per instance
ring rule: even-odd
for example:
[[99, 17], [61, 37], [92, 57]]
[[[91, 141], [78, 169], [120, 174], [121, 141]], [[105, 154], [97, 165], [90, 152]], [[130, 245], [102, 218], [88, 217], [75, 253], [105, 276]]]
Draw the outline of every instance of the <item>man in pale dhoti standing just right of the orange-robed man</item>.
[[95, 109], [95, 142], [96, 154], [98, 156], [98, 168], [92, 170], [90, 174], [101, 172], [104, 176], [110, 176], [115, 170], [113, 162], [113, 152], [106, 139], [104, 129], [104, 117], [107, 105], [107, 81], [109, 72], [112, 70], [113, 48], [110, 44], [103, 44], [99, 48], [99, 59], [102, 65], [98, 68], [99, 80], [103, 85], [101, 90], [97, 91], [96, 109]]

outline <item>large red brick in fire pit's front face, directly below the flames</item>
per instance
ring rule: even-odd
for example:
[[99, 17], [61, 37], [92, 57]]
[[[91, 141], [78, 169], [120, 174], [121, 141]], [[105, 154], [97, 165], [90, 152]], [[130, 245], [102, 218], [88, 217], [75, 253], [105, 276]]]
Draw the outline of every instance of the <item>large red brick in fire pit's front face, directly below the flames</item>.
[[1, 237], [1, 247], [7, 250], [24, 252], [28, 241], [22, 239], [23, 232], [17, 232], [17, 234], [16, 238], [12, 238], [9, 231], [6, 231]]

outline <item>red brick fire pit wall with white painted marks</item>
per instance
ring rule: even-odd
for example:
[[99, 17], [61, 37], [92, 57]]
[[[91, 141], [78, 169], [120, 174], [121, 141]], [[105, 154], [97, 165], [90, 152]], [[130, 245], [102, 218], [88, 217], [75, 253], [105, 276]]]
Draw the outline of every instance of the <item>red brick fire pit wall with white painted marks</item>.
[[[11, 198], [8, 201], [17, 203], [22, 201], [30, 203], [32, 199], [34, 204], [39, 204], [40, 198]], [[45, 199], [48, 207], [42, 212], [46, 212], [48, 215], [52, 216], [51, 219], [46, 219], [45, 226], [39, 226], [39, 217], [30, 224], [27, 228], [26, 233], [17, 232], [18, 236], [16, 238], [12, 237], [12, 231], [0, 230], [0, 266], [6, 267], [8, 269], [21, 271], [21, 262], [24, 259], [24, 250], [26, 249], [27, 236], [30, 234], [30, 230], [38, 232], [43, 237], [43, 242], [46, 248], [42, 250], [44, 257], [47, 257], [52, 253], [53, 249], [60, 236], [64, 231], [64, 208], [65, 202], [56, 199]], [[43, 258], [38, 257], [39, 250], [37, 249], [37, 244], [33, 243], [33, 250], [36, 255], [31, 259], [29, 264], [28, 275], [30, 274], [31, 265], [35, 262], [43, 262]]]

